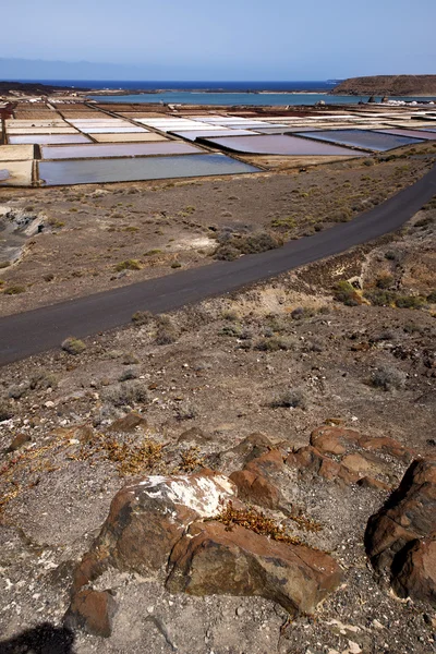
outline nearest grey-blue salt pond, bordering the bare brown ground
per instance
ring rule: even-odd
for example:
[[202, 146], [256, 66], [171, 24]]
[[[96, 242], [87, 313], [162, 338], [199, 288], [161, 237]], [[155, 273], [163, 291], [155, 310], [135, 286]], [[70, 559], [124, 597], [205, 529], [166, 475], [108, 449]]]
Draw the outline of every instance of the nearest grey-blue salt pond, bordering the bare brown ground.
[[259, 172], [225, 155], [39, 161], [38, 169], [39, 179], [48, 186]]

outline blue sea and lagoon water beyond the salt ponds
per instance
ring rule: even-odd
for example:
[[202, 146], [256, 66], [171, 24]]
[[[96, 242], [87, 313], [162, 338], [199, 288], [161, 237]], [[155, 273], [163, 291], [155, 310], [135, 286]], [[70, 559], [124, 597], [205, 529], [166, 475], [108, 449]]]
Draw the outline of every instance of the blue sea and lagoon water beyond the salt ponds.
[[[32, 80], [19, 80], [32, 82]], [[153, 93], [123, 96], [104, 96], [89, 94], [90, 99], [108, 102], [161, 102], [174, 105], [251, 105], [276, 106], [315, 105], [323, 100], [326, 105], [356, 104], [367, 101], [368, 96], [327, 95], [339, 83], [328, 81], [302, 82], [172, 82], [172, 81], [101, 81], [101, 80], [39, 80], [53, 86], [85, 87], [93, 89], [132, 89]], [[288, 92], [288, 93], [287, 93]], [[377, 98], [380, 100], [382, 98]], [[404, 101], [433, 101], [436, 98], [395, 98]]]

